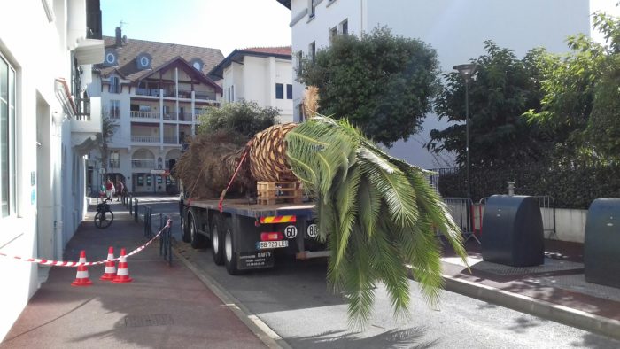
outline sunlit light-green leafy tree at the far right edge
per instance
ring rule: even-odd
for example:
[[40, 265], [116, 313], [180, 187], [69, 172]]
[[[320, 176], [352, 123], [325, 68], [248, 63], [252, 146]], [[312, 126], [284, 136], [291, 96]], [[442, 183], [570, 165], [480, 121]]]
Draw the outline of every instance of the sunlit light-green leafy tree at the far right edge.
[[617, 159], [620, 151], [620, 19], [597, 13], [593, 25], [606, 44], [574, 35], [569, 54], [538, 61], [544, 97], [541, 109], [527, 117], [561, 138], [564, 159]]

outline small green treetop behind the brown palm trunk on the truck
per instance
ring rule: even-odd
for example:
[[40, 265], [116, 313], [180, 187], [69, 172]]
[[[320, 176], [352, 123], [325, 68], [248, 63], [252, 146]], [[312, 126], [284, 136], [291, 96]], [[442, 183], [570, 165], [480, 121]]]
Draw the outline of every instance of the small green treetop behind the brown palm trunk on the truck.
[[274, 125], [278, 115], [277, 108], [263, 108], [253, 101], [210, 106], [198, 117], [198, 135], [234, 132], [248, 140], [257, 132]]

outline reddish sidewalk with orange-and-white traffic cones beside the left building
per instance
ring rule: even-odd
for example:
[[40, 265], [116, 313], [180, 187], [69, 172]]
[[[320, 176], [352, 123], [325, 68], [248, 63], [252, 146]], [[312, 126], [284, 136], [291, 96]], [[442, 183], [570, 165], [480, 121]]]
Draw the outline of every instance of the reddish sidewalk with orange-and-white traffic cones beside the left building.
[[[121, 247], [130, 252], [146, 242], [123, 206], [112, 211], [108, 229], [95, 228], [94, 212], [87, 214], [65, 260], [77, 261], [81, 250], [88, 261], [105, 260], [108, 246], [118, 257]], [[71, 286], [76, 268], [51, 268], [0, 347], [267, 347], [179, 260], [169, 267], [157, 241], [128, 258], [132, 283], [100, 281], [104, 268], [89, 267], [89, 287]]]

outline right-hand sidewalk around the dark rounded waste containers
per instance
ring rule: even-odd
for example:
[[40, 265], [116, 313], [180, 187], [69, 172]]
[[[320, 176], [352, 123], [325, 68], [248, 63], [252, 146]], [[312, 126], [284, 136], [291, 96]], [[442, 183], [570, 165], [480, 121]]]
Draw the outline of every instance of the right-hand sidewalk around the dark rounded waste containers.
[[583, 244], [545, 240], [545, 264], [515, 268], [482, 260], [466, 244], [471, 273], [448, 246], [446, 290], [620, 339], [620, 289], [585, 282]]

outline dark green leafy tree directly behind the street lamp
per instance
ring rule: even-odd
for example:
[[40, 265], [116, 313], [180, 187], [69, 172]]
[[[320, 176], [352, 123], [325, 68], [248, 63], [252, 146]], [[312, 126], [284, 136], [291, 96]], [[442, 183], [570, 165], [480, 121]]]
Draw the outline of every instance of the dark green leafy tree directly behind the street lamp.
[[[523, 112], [538, 110], [539, 70], [543, 50], [531, 50], [523, 59], [513, 50], [484, 42], [485, 54], [475, 60], [477, 75], [469, 80], [469, 156], [472, 167], [500, 167], [541, 159], [551, 139]], [[451, 151], [466, 161], [465, 81], [458, 72], [445, 74], [445, 86], [435, 101], [440, 119], [451, 126], [433, 129], [427, 148]]]

